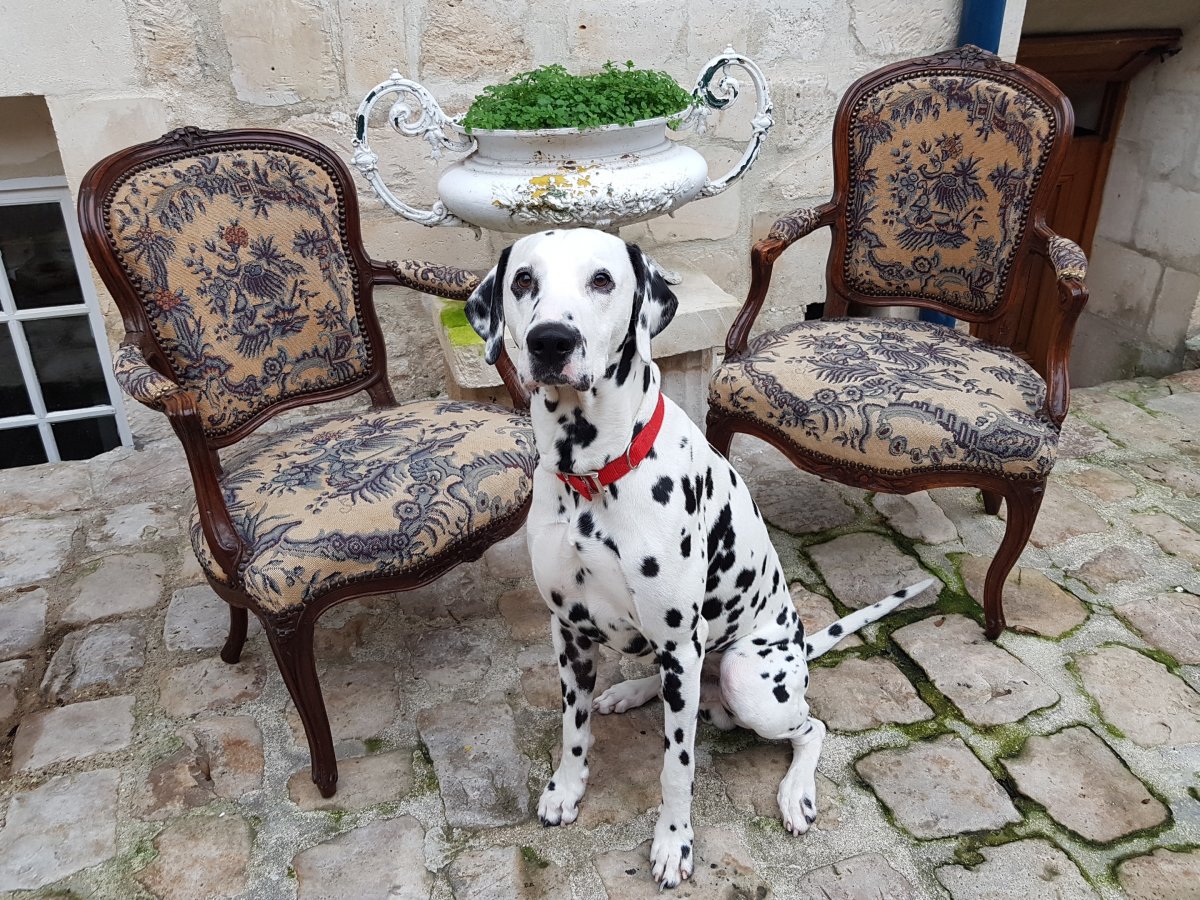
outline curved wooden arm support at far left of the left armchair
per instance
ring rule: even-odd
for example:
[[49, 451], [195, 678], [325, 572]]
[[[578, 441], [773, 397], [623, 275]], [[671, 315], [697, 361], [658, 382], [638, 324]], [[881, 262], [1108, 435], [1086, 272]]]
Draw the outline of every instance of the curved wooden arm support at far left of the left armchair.
[[220, 463], [216, 451], [209, 446], [204, 426], [196, 408], [196, 400], [185, 390], [176, 390], [162, 400], [162, 409], [175, 430], [196, 488], [196, 505], [199, 510], [200, 530], [209, 542], [212, 558], [224, 571], [232, 584], [240, 582], [240, 564], [246, 545], [233, 527], [224, 492], [221, 490]]

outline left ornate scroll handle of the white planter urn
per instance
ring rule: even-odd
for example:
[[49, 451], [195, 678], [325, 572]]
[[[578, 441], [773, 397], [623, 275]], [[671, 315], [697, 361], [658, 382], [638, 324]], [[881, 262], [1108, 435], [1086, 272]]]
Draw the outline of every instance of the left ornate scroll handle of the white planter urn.
[[[374, 188], [379, 199], [404, 218], [426, 226], [469, 226], [451, 214], [442, 200], [434, 203], [430, 209], [409, 206], [396, 197], [379, 176], [379, 155], [367, 143], [367, 125], [376, 103], [391, 94], [400, 95], [391, 104], [391, 109], [388, 110], [388, 121], [391, 122], [391, 127], [406, 137], [425, 138], [430, 143], [430, 152], [434, 160], [442, 156], [442, 148], [463, 154], [475, 149], [474, 138], [448, 137], [446, 126], [452, 126], [454, 120], [442, 112], [442, 107], [438, 106], [433, 95], [416, 82], [412, 82], [401, 76], [400, 72], [394, 71], [391, 78], [380, 82], [367, 94], [362, 103], [359, 104], [359, 112], [354, 115], [354, 156], [352, 157], [354, 167], [371, 182], [371, 187]], [[451, 134], [454, 134], [452, 130]], [[469, 227], [474, 228], [474, 226]]]

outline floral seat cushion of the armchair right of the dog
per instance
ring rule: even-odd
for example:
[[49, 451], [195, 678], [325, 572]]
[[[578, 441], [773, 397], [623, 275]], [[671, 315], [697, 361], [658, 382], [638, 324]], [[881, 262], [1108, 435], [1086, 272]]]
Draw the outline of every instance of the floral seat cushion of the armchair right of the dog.
[[989, 472], [1042, 479], [1058, 431], [1045, 383], [1019, 356], [906, 319], [800, 322], [760, 335], [713, 377], [709, 403], [802, 455], [887, 475]]

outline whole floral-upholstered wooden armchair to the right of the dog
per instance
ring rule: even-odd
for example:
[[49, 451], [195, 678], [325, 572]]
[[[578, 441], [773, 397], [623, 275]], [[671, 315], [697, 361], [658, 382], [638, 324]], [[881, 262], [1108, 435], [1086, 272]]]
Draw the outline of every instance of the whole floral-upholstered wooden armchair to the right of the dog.
[[[1087, 260], [1045, 212], [1073, 130], [1067, 98], [1020, 66], [962, 47], [860, 78], [834, 121], [834, 197], [775, 222], [751, 251], [751, 284], [713, 377], [708, 436], [754, 434], [827, 479], [910, 493], [970, 486], [1008, 522], [984, 587], [985, 630], [1033, 528], [1067, 415], [1067, 361], [1087, 301]], [[750, 329], [772, 266], [829, 228], [823, 318]], [[1033, 265], [1057, 296], [1019, 319]], [[914, 306], [971, 334], [905, 318]]]

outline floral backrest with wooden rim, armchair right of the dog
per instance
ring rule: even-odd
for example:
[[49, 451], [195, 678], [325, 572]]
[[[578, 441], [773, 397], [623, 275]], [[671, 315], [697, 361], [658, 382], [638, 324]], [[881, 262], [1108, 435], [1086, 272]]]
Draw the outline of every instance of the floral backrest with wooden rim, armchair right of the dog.
[[971, 322], [1002, 316], [1073, 124], [1052, 84], [977, 47], [859, 79], [834, 125], [830, 289]]

